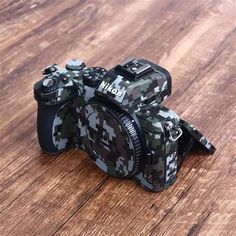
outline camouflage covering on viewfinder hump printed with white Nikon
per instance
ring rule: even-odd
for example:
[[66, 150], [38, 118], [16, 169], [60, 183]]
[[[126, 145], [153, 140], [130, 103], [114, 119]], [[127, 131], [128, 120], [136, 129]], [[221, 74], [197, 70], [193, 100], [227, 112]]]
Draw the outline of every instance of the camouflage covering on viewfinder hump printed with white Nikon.
[[[157, 72], [131, 81], [116, 72], [109, 71], [98, 87], [98, 93], [108, 96], [111, 100], [128, 111], [137, 110], [144, 101], [161, 102], [166, 97], [168, 87], [165, 76]], [[148, 102], [151, 102], [148, 101]]]

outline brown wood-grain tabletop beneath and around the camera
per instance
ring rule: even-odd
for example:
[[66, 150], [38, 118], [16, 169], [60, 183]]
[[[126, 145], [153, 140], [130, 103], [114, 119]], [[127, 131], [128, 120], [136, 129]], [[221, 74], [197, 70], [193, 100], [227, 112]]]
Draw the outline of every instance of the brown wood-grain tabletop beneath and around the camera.
[[[0, 235], [236, 235], [233, 0], [14, 1], [0, 6]], [[33, 84], [70, 58], [111, 68], [135, 56], [173, 76], [166, 106], [217, 147], [151, 193], [83, 151], [43, 154]]]

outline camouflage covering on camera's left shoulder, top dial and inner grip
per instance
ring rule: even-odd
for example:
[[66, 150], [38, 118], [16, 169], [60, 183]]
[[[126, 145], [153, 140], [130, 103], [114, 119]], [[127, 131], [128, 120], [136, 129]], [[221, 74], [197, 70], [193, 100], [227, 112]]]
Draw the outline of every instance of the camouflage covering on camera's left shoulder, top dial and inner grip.
[[85, 64], [80, 60], [71, 60], [66, 68], [53, 65], [46, 69], [46, 77], [34, 87], [35, 98], [40, 102], [49, 107], [62, 104], [54, 114], [52, 124], [52, 140], [58, 151], [83, 145], [78, 138], [83, 131], [78, 124], [78, 114], [94, 96], [94, 88], [83, 84], [81, 73], [84, 68]]

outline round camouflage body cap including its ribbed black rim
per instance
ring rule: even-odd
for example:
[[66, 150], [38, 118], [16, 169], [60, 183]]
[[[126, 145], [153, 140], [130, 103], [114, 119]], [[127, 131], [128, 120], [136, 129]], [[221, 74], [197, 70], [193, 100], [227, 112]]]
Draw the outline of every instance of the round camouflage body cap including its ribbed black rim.
[[96, 165], [114, 177], [137, 174], [143, 149], [132, 117], [98, 102], [89, 103], [84, 112], [89, 152]]

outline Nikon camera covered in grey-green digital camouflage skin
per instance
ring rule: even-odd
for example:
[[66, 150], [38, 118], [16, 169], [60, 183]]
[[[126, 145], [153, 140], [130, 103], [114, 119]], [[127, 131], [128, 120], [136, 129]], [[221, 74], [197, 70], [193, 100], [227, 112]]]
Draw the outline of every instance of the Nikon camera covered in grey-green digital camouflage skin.
[[34, 85], [41, 148], [57, 154], [86, 150], [104, 172], [162, 191], [177, 177], [178, 163], [195, 144], [214, 146], [162, 105], [171, 94], [167, 70], [130, 58], [107, 71], [71, 60], [43, 71]]

